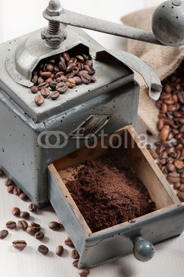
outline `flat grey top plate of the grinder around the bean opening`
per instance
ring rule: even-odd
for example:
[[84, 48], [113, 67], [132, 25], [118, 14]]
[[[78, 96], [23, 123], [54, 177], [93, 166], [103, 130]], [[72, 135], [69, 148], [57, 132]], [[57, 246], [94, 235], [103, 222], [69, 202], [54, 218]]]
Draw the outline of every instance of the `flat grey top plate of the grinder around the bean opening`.
[[[104, 50], [98, 42], [95, 42], [95, 40], [87, 35], [82, 29], [67, 26], [67, 32], [68, 30], [74, 31], [75, 34], [77, 33], [86, 39], [86, 43], [89, 44], [90, 53]], [[35, 33], [35, 37], [40, 36], [41, 30], [37, 30], [33, 33]], [[13, 80], [8, 74], [5, 65], [8, 51], [11, 51], [17, 44], [29, 36], [30, 34], [24, 35], [0, 45], [0, 87], [19, 107], [21, 107], [21, 109], [24, 110], [26, 114], [36, 121], [44, 120], [55, 114], [60, 114], [63, 111], [66, 111], [66, 109], [71, 109], [76, 105], [79, 105], [81, 102], [86, 102], [87, 100], [100, 95], [104, 90], [107, 91], [120, 87], [120, 85], [134, 80], [133, 71], [121, 62], [118, 62], [118, 60], [93, 60], [93, 67], [96, 71], [94, 76], [97, 80], [95, 83], [88, 85], [81, 84], [73, 89], [68, 89], [68, 91], [62, 94], [57, 100], [53, 101], [51, 99], [46, 99], [44, 105], [37, 107], [34, 101], [35, 94], [30, 92], [30, 88], [17, 84], [17, 82], [15, 82], [15, 80]]]

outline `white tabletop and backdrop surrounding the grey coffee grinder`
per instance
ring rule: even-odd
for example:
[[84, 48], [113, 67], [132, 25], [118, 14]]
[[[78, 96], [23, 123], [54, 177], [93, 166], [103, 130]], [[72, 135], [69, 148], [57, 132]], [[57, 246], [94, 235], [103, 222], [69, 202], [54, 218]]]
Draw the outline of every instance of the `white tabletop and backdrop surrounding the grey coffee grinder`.
[[[122, 15], [162, 2], [162, 0], [63, 0], [61, 3], [68, 10], [120, 23]], [[48, 0], [0, 0], [0, 43], [46, 26], [47, 21], [42, 17], [42, 12], [47, 5]], [[91, 31], [89, 33], [107, 48], [122, 49], [120, 38]], [[21, 202], [15, 195], [8, 195], [3, 181], [0, 178], [0, 229], [6, 228], [8, 220], [15, 220], [10, 213], [12, 206], [19, 206], [21, 211], [28, 211], [28, 203]], [[46, 239], [41, 243], [49, 247], [50, 253], [46, 257], [42, 256], [37, 252], [38, 241], [23, 231], [12, 230], [8, 238], [0, 242], [0, 276], [78, 276], [77, 269], [71, 266], [71, 249], [64, 245], [65, 231], [48, 230], [48, 222], [57, 220], [52, 208], [39, 211], [32, 215], [31, 220], [44, 227]], [[12, 249], [11, 242], [16, 239], [25, 239], [28, 242], [28, 247], [21, 253]], [[141, 263], [133, 255], [129, 255], [91, 269], [90, 277], [183, 277], [183, 240], [184, 234], [157, 244], [155, 256], [150, 262]], [[55, 255], [58, 244], [65, 247], [62, 258]]]

